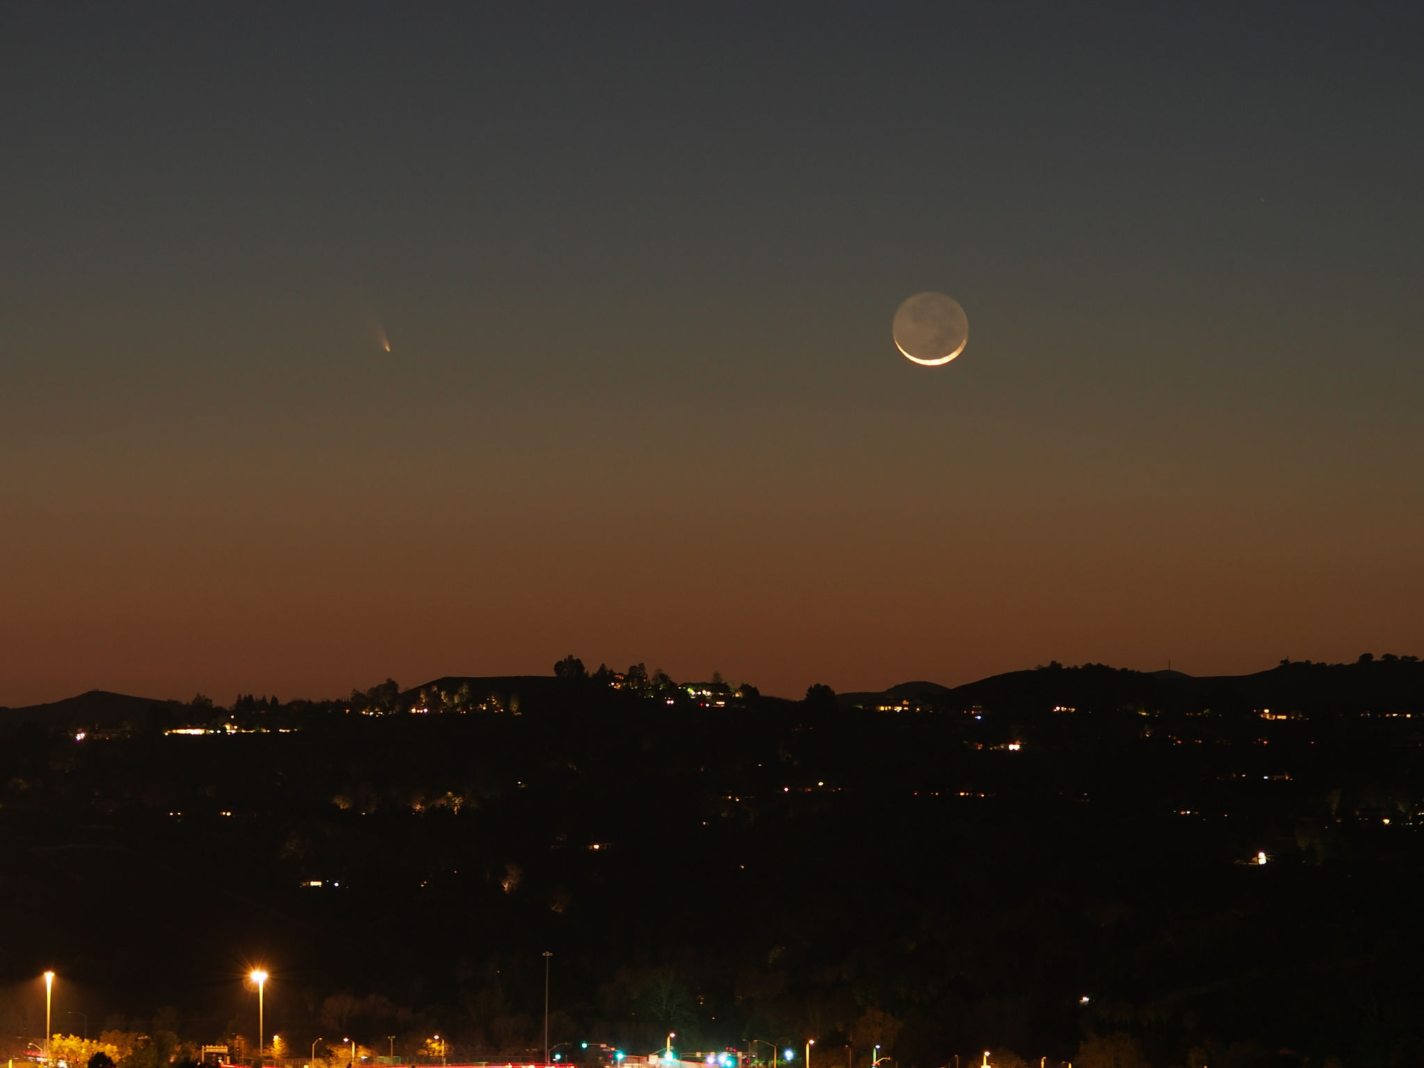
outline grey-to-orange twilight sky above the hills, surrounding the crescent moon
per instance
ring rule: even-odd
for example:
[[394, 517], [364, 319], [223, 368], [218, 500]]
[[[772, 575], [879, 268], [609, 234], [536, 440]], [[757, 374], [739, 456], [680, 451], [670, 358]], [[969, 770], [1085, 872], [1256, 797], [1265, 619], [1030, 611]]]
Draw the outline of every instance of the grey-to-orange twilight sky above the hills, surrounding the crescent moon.
[[10, 6], [0, 703], [1424, 654], [1421, 21]]

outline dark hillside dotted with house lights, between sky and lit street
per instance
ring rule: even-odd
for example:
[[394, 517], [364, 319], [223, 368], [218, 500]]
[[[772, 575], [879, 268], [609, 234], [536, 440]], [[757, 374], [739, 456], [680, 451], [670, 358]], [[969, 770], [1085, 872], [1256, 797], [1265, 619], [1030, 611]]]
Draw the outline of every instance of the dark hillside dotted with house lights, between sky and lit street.
[[43, 1030], [53, 967], [95, 1028], [168, 1007], [185, 1041], [251, 1040], [263, 964], [268, 1032], [299, 1054], [439, 1032], [518, 1057], [548, 950], [551, 1040], [637, 1054], [676, 1031], [815, 1038], [827, 1068], [876, 1045], [913, 1068], [1421, 1064], [1421, 742], [1403, 658], [795, 702], [564, 661], [9, 711], [7, 1031]]

